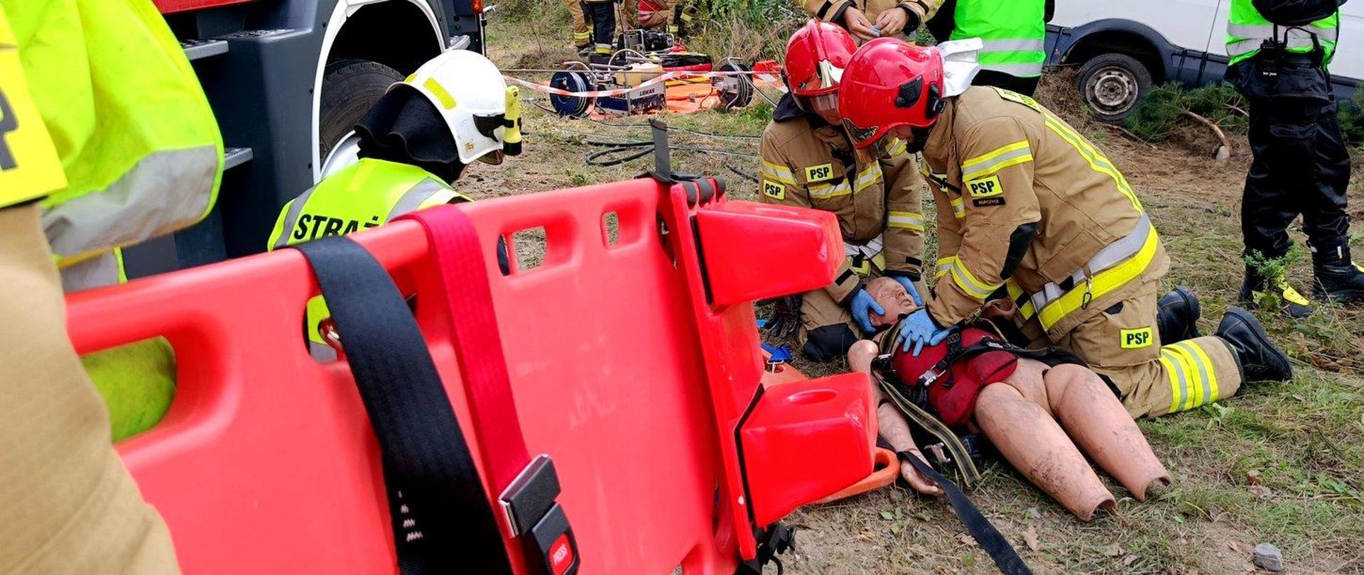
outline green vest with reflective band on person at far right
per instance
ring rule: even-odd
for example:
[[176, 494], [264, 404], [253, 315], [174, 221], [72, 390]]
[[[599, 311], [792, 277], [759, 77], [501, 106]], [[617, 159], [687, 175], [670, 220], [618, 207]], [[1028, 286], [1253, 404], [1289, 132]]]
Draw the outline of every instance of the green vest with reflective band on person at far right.
[[1320, 46], [1322, 63], [1326, 64], [1335, 56], [1339, 30], [1339, 11], [1307, 26], [1277, 26], [1260, 15], [1251, 0], [1232, 0], [1232, 14], [1226, 20], [1226, 55], [1236, 64], [1255, 56], [1266, 40], [1273, 40], [1297, 53], [1309, 53]]

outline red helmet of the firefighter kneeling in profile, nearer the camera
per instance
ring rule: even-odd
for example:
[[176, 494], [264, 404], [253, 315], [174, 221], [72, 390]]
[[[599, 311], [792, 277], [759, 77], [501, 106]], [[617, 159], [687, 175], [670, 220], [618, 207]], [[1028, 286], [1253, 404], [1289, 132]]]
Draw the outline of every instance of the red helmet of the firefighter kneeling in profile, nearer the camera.
[[944, 104], [943, 55], [895, 38], [877, 38], [857, 50], [839, 90], [843, 127], [859, 149], [900, 125], [933, 125]]

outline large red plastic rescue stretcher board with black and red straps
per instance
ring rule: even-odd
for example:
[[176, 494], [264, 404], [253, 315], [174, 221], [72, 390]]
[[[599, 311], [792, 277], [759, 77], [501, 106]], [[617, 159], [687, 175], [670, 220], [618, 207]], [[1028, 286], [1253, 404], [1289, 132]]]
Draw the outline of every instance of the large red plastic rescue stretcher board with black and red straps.
[[[752, 302], [827, 285], [837, 223], [731, 202], [717, 180], [672, 181], [667, 165], [668, 184], [442, 206], [307, 259], [280, 251], [72, 294], [78, 352], [157, 335], [176, 349], [169, 413], [117, 448], [181, 568], [760, 571], [790, 544], [782, 516], [872, 471], [865, 373], [760, 386]], [[543, 258], [513, 249], [499, 271], [498, 238], [532, 229]], [[349, 362], [314, 361], [300, 338], [319, 281], [338, 307], [372, 296], [374, 309], [334, 309]], [[402, 327], [404, 300], [420, 331]], [[415, 345], [370, 345], [389, 334], [368, 322], [381, 312]], [[383, 372], [424, 382], [424, 407], [401, 407], [408, 391], [371, 397]], [[473, 481], [451, 463], [464, 443]], [[451, 520], [451, 508], [483, 511]], [[479, 544], [490, 533], [501, 545]]]

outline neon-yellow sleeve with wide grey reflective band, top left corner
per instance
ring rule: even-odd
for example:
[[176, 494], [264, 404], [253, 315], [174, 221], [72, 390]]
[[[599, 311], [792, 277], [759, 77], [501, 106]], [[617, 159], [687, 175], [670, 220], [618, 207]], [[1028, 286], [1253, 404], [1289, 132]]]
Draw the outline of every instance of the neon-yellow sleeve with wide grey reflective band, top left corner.
[[67, 181], [41, 203], [59, 264], [207, 215], [222, 174], [222, 136], [184, 49], [151, 1], [0, 5]]

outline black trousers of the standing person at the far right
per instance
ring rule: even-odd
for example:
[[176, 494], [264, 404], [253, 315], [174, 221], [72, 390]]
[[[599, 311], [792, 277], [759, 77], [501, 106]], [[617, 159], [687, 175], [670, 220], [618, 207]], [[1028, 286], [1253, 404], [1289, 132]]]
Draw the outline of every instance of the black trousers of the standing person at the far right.
[[[1309, 97], [1286, 90], [1259, 74], [1241, 82], [1260, 82], [1259, 90], [1243, 90], [1251, 102], [1249, 144], [1255, 159], [1245, 176], [1241, 199], [1241, 234], [1245, 252], [1270, 258], [1288, 253], [1288, 225], [1299, 214], [1308, 238], [1331, 245], [1345, 241], [1350, 218], [1345, 188], [1350, 155], [1341, 138], [1335, 102], [1316, 95], [1330, 86], [1314, 87]], [[1324, 75], [1322, 82], [1326, 82]], [[1258, 93], [1258, 94], [1256, 94]]]

